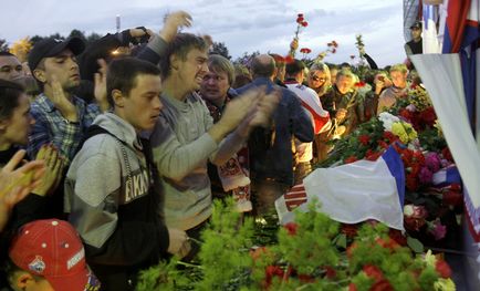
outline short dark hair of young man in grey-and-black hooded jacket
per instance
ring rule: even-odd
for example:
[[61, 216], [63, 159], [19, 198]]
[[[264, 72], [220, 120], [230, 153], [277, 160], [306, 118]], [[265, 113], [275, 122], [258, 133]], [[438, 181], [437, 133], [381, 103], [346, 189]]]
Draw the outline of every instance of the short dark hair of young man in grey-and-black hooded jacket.
[[119, 90], [125, 94], [129, 94], [135, 87], [135, 79], [137, 75], [158, 75], [160, 70], [154, 64], [134, 58], [123, 58], [113, 60], [108, 64], [106, 73], [106, 92], [108, 104], [114, 107], [115, 103], [112, 97], [113, 90]]

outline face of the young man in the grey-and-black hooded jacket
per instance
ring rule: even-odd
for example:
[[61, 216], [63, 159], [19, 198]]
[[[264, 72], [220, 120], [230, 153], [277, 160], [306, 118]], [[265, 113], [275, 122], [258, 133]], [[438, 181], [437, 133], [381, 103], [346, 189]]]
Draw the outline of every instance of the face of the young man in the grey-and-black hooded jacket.
[[154, 128], [160, 110], [161, 80], [158, 75], [140, 74], [124, 98], [124, 118], [137, 131]]

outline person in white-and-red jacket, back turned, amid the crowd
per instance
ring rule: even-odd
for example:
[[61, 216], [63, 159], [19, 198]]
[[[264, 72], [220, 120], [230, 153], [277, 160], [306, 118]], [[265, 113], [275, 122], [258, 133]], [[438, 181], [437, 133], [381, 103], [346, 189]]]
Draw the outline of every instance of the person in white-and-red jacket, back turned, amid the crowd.
[[[286, 64], [285, 85], [296, 94], [303, 108], [312, 118], [315, 135], [319, 135], [331, 127], [330, 114], [322, 107], [319, 95], [305, 85], [305, 64], [300, 60]], [[298, 160], [295, 165], [295, 184], [302, 184], [303, 178], [312, 172], [313, 143], [302, 143], [295, 138]]]

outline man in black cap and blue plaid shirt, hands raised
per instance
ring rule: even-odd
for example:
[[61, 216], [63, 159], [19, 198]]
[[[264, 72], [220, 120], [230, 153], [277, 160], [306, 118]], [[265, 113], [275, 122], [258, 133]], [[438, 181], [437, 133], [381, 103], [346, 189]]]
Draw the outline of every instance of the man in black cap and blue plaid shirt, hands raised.
[[76, 55], [84, 48], [79, 38], [46, 39], [38, 42], [29, 54], [29, 66], [42, 92], [31, 105], [36, 121], [28, 147], [31, 157], [42, 145], [51, 143], [69, 165], [86, 128], [100, 114], [96, 104], [86, 105], [72, 94], [80, 84]]

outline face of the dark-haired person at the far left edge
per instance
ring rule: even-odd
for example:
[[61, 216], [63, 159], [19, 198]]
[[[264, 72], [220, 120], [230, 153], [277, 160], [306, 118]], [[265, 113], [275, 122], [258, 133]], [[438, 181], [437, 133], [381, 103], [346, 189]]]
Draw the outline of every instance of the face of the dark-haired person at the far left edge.
[[30, 115], [30, 102], [25, 94], [19, 96], [19, 105], [13, 110], [10, 118], [2, 121], [0, 124], [4, 128], [2, 139], [10, 145], [27, 145], [31, 125], [35, 121]]

